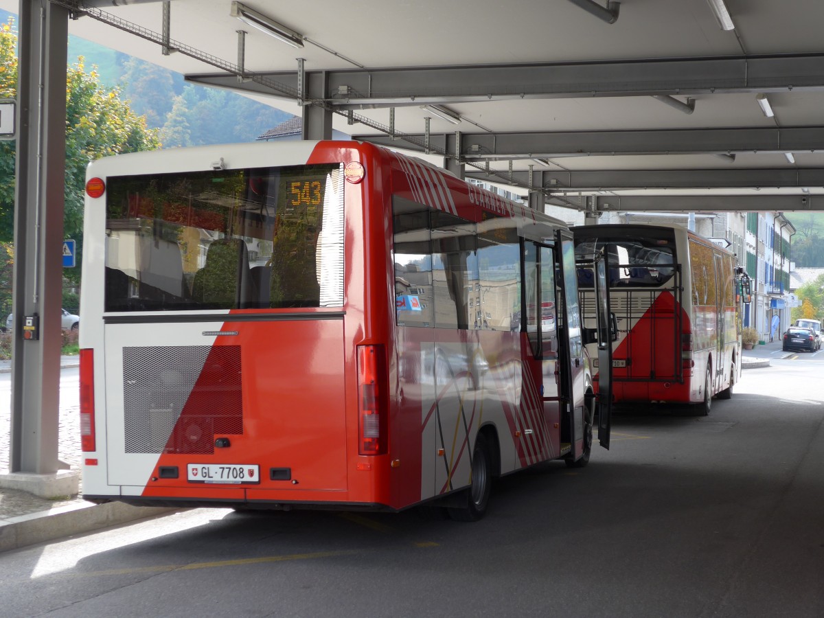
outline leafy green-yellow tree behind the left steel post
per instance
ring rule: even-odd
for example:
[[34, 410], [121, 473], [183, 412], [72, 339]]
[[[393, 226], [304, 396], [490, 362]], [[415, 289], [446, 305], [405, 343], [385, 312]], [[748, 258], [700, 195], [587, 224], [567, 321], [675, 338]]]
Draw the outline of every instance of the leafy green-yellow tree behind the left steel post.
[[[0, 29], [0, 98], [16, 96], [17, 35], [13, 19]], [[66, 176], [63, 234], [77, 240], [77, 268], [67, 279], [79, 283], [82, 260], [83, 195], [86, 166], [100, 157], [161, 146], [157, 131], [147, 129], [120, 97], [119, 88], [101, 85], [94, 69], [87, 73], [83, 59], [68, 67], [66, 79]], [[0, 242], [14, 236], [15, 142], [0, 142]], [[0, 250], [0, 262], [9, 251]], [[2, 269], [2, 265], [0, 265]], [[7, 291], [11, 293], [11, 291]], [[0, 298], [2, 305], [2, 298]]]

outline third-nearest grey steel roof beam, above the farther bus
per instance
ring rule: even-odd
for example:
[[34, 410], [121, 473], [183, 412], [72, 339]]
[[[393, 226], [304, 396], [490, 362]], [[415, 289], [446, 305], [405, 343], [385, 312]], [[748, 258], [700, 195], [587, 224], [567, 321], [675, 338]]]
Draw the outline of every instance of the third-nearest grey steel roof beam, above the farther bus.
[[[803, 188], [824, 186], [824, 169], [778, 168], [742, 170], [542, 170], [549, 191], [634, 189]], [[467, 170], [467, 178], [490, 180], [483, 171]], [[529, 172], [513, 171], [513, 184], [527, 186]], [[495, 179], [494, 182], [500, 182]]]

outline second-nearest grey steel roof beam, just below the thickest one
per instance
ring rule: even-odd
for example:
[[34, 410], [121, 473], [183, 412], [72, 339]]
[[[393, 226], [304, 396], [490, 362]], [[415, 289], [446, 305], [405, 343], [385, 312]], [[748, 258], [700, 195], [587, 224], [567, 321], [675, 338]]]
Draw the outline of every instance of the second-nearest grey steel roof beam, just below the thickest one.
[[[404, 139], [382, 135], [353, 138], [387, 146], [407, 145]], [[437, 145], [444, 137], [431, 135], [430, 140]], [[413, 144], [412, 148], [417, 147]], [[461, 133], [461, 153], [467, 161], [734, 152], [824, 152], [824, 126]]]

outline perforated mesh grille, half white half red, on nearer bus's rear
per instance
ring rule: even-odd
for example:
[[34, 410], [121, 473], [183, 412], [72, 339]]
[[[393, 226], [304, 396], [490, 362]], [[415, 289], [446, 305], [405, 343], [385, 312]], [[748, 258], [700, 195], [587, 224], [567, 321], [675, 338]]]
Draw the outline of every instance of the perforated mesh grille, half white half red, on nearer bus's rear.
[[211, 453], [243, 433], [240, 346], [124, 348], [127, 453]]

